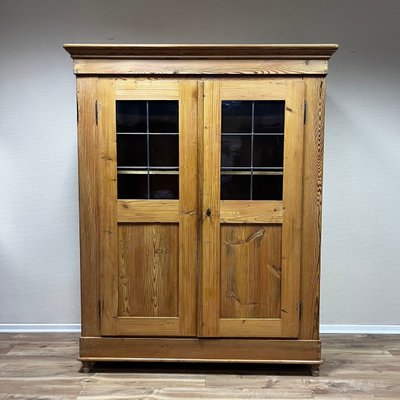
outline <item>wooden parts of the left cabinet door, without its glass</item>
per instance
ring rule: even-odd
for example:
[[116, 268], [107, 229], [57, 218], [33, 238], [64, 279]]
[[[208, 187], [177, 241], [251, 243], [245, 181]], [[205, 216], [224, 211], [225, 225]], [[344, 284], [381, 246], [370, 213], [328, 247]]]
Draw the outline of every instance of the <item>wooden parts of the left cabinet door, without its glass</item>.
[[[194, 336], [197, 81], [103, 78], [100, 82], [102, 334]], [[179, 200], [117, 200], [114, 102], [121, 91], [124, 99], [131, 100], [144, 95], [148, 100], [179, 99]]]

